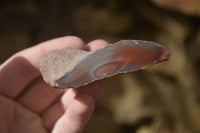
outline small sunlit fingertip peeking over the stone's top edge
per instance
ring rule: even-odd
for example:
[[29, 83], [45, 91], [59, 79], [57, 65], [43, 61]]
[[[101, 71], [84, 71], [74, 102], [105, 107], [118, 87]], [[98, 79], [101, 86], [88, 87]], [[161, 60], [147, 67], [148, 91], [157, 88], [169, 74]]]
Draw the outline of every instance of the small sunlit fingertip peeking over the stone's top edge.
[[87, 51], [95, 51], [95, 50], [98, 50], [102, 47], [105, 47], [106, 45], [108, 45], [107, 41], [98, 39], [98, 40], [94, 40], [94, 41], [89, 42], [86, 45], [86, 50]]

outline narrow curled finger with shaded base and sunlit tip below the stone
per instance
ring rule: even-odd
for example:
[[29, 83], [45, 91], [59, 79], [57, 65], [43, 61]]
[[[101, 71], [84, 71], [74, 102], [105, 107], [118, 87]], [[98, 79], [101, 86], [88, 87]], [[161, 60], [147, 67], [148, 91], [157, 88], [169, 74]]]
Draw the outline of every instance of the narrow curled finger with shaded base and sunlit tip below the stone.
[[44, 127], [47, 130], [50, 131], [53, 128], [56, 121], [64, 114], [65, 111], [67, 111], [76, 95], [76, 89], [68, 88], [57, 103], [53, 104], [41, 114]]

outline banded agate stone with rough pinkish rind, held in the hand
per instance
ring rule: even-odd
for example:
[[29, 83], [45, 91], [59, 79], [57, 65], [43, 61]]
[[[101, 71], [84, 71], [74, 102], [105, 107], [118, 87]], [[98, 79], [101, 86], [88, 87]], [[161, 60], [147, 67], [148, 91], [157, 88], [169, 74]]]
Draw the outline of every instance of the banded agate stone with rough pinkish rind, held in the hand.
[[157, 43], [122, 40], [94, 52], [65, 48], [40, 62], [43, 79], [53, 87], [78, 88], [95, 80], [144, 69], [168, 60], [171, 51]]

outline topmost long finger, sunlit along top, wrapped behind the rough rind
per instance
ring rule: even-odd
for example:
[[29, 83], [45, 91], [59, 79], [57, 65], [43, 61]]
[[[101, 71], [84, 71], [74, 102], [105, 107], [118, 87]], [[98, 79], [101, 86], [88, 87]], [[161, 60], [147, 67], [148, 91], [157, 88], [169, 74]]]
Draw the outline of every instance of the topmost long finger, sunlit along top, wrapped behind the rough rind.
[[0, 94], [14, 98], [39, 76], [40, 59], [53, 49], [72, 47], [84, 49], [83, 41], [78, 37], [68, 36], [53, 39], [25, 49], [0, 66]]

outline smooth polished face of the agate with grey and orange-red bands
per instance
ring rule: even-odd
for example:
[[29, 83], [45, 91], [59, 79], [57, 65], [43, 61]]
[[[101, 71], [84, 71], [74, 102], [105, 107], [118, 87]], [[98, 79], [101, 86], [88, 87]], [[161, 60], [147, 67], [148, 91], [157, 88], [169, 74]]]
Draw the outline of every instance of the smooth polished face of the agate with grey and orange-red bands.
[[55, 80], [53, 86], [78, 88], [95, 80], [144, 69], [168, 60], [170, 55], [168, 48], [154, 42], [122, 40], [87, 55], [71, 71]]

